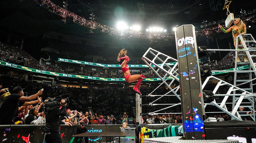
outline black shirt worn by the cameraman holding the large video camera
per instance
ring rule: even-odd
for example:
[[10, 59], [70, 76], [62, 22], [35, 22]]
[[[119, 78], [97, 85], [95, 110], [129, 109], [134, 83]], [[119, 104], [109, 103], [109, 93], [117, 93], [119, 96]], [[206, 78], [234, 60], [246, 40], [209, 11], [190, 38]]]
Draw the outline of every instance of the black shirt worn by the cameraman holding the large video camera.
[[66, 110], [66, 106], [62, 106], [61, 109], [58, 109], [57, 107], [48, 109], [48, 111], [45, 113], [45, 133], [59, 132], [59, 116], [66, 116]]

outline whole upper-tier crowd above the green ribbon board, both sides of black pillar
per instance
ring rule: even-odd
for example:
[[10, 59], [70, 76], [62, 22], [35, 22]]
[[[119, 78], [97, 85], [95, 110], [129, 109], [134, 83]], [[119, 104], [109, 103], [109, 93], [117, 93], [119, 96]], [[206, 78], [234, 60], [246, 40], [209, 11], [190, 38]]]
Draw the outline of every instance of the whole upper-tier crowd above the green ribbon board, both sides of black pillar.
[[[20, 50], [18, 47], [13, 47], [7, 44], [0, 43], [0, 60], [10, 62], [13, 64], [18, 64], [21, 66], [44, 70], [44, 71], [53, 71], [57, 73], [65, 73], [65, 74], [76, 74], [76, 75], [85, 75], [85, 76], [93, 76], [93, 77], [103, 77], [103, 78], [113, 78], [111, 73], [105, 73], [101, 71], [89, 71], [89, 70], [78, 70], [74, 69], [70, 72], [65, 67], [54, 67], [53, 65], [44, 65], [35, 60], [32, 56], [26, 53], [23, 50]], [[252, 53], [253, 54], [253, 53]], [[242, 57], [242, 56], [241, 56]], [[226, 70], [234, 68], [234, 59], [235, 52], [229, 52], [218, 64], [215, 64], [212, 67], [212, 70]], [[141, 74], [141, 72], [131, 72], [131, 74]], [[163, 77], [165, 75], [164, 72], [159, 72], [160, 76]], [[115, 78], [124, 78], [122, 72], [117, 72]], [[158, 76], [154, 72], [147, 72], [145, 75], [146, 78], [158, 78]]]

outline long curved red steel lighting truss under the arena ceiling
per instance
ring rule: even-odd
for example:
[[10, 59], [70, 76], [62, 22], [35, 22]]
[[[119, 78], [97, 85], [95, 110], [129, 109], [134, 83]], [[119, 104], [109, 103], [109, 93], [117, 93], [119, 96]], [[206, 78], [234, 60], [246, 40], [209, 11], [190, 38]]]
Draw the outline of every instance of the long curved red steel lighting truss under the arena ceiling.
[[[101, 32], [109, 33], [110, 35], [119, 35], [121, 37], [131, 37], [140, 39], [175, 39], [174, 33], [146, 33], [146, 32], [133, 32], [133, 31], [120, 31], [109, 27], [107, 25], [102, 25], [91, 20], [86, 20], [64, 8], [56, 6], [50, 0], [34, 0], [40, 3], [43, 7], [48, 8], [53, 11], [53, 13], [63, 17], [63, 19], [70, 19], [73, 22], [80, 24], [82, 26], [91, 28], [92, 30], [99, 30]], [[255, 16], [256, 17], [256, 16]], [[254, 15], [253, 15], [254, 18]], [[245, 20], [246, 21], [246, 20]], [[255, 20], [252, 20], [254, 22]], [[196, 31], [196, 36], [207, 36], [213, 33], [219, 33], [222, 30], [218, 27], [211, 27], [207, 29], [202, 29]]]

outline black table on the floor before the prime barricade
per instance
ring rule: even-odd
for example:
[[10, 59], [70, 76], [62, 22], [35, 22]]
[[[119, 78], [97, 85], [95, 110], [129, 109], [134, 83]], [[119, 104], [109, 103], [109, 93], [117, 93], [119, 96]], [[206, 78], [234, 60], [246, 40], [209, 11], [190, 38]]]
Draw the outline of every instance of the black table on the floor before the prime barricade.
[[[91, 142], [93, 142], [95, 137], [106, 137], [107, 140], [106, 142], [108, 142], [108, 137], [119, 137], [119, 141], [120, 141], [120, 137], [125, 137], [125, 133], [124, 132], [105, 132], [105, 133], [82, 133], [82, 134], [78, 134], [78, 135], [73, 135], [74, 137], [91, 137]], [[100, 142], [100, 139], [99, 139]], [[110, 139], [111, 142], [111, 139]], [[114, 140], [113, 140], [114, 143]]]

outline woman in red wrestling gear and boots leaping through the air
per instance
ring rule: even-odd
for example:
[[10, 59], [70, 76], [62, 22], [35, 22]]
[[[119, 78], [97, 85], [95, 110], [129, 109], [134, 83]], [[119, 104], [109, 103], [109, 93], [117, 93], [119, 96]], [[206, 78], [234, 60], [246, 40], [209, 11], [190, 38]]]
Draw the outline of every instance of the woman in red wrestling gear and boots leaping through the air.
[[127, 50], [122, 49], [117, 56], [117, 61], [121, 65], [121, 70], [123, 71], [124, 78], [128, 83], [135, 82], [138, 80], [136, 86], [133, 87], [133, 90], [135, 90], [138, 94], [141, 94], [139, 88], [140, 88], [141, 81], [145, 78], [145, 76], [140, 74], [131, 75], [129, 66], [127, 65], [127, 62], [130, 59], [126, 54], [127, 54]]

